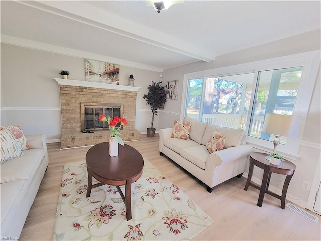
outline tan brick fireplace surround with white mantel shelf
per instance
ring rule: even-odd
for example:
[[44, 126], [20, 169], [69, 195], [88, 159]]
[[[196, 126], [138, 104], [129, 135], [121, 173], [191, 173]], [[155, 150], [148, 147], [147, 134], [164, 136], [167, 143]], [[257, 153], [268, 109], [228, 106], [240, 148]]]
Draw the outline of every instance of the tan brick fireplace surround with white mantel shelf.
[[135, 129], [138, 87], [55, 78], [60, 87], [61, 149], [107, 142], [109, 130], [81, 132], [81, 103], [122, 104], [128, 124], [121, 130], [124, 141], [140, 139]]

